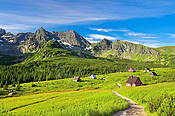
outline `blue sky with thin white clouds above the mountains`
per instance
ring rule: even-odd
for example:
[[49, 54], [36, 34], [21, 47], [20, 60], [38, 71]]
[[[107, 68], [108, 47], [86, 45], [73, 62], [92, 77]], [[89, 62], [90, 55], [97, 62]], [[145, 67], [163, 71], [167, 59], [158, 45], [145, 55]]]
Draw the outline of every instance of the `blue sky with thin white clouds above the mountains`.
[[0, 28], [35, 32], [75, 30], [150, 47], [175, 45], [174, 0], [0, 0]]

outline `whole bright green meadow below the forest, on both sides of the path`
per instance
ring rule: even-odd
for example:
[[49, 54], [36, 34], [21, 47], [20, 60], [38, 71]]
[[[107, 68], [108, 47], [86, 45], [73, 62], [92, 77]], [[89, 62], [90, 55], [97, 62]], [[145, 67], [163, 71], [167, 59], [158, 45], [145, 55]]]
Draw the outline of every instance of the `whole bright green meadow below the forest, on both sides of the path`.
[[[149, 76], [149, 72], [137, 70], [135, 73], [96, 75], [97, 79], [84, 77], [81, 78], [81, 82], [73, 82], [71, 78], [66, 78], [23, 83], [13, 97], [8, 96], [8, 91], [1, 88], [0, 112], [1, 115], [12, 116], [109, 116], [129, 107], [125, 100], [112, 93], [112, 90], [115, 90], [143, 105], [149, 115], [173, 116], [175, 69], [152, 68], [151, 70], [158, 76], [152, 77]], [[126, 87], [125, 82], [132, 75], [140, 77], [145, 85]], [[117, 83], [122, 85], [121, 88]], [[9, 85], [8, 89], [14, 90], [15, 87]]]

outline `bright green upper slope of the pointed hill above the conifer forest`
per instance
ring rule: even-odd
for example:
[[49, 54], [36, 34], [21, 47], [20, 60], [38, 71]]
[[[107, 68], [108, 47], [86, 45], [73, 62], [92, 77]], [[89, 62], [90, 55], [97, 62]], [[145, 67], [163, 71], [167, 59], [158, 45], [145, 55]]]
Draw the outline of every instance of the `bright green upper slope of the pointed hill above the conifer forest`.
[[67, 50], [57, 40], [50, 40], [33, 56], [26, 59], [25, 62], [51, 60], [59, 57], [94, 58], [93, 56], [81, 51]]

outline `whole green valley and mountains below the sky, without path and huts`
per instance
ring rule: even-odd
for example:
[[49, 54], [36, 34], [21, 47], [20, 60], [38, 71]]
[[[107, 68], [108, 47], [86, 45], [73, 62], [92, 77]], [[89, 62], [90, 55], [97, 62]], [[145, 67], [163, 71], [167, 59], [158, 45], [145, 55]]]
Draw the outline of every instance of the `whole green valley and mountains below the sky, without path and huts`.
[[[44, 28], [17, 35], [3, 31], [0, 40], [2, 116], [110, 116], [130, 107], [112, 91], [142, 105], [147, 115], [175, 115], [173, 46], [105, 38], [90, 43], [75, 31]], [[72, 81], [75, 77], [79, 80]], [[128, 78], [139, 78], [141, 86], [128, 87]]]

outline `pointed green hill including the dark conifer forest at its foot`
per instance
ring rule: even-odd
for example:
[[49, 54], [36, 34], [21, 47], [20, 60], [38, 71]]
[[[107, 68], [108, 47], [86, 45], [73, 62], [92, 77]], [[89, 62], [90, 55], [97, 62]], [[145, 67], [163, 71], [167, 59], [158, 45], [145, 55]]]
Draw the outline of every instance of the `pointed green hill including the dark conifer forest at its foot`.
[[71, 78], [91, 74], [126, 72], [131, 66], [135, 69], [165, 67], [153, 64], [153, 62], [97, 58], [80, 51], [67, 50], [59, 41], [50, 40], [23, 62], [0, 66], [0, 79], [2, 86], [5, 83], [53, 80], [57, 79], [59, 74], [64, 78]]

